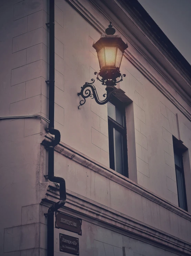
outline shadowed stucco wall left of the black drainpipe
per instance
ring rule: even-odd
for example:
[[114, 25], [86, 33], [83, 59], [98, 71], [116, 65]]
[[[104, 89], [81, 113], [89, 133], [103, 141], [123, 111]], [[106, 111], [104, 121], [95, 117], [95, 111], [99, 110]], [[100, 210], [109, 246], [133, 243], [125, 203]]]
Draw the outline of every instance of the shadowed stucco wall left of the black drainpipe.
[[[0, 116], [46, 116], [47, 3], [0, 2]], [[22, 207], [40, 203], [46, 189], [39, 183], [41, 132], [46, 126], [39, 118], [0, 121], [0, 255], [26, 255], [20, 250], [39, 247], [39, 224], [26, 222]], [[6, 228], [11, 238], [6, 239]]]

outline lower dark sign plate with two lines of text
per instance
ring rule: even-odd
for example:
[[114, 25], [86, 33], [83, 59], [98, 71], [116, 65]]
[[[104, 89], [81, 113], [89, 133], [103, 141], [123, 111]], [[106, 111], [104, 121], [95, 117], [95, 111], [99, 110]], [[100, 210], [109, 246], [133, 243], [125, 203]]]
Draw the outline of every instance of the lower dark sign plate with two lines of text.
[[70, 253], [74, 255], [80, 255], [79, 253], [79, 239], [76, 237], [59, 234], [60, 236], [60, 251]]

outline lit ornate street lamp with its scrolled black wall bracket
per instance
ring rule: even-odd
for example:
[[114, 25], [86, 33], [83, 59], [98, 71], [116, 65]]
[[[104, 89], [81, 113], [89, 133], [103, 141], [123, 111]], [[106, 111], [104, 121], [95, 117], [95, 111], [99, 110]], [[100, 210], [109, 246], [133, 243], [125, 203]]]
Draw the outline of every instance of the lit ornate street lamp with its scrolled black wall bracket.
[[[81, 87], [81, 91], [78, 92], [78, 96], [81, 95], [83, 98], [80, 100], [79, 109], [80, 106], [85, 104], [88, 97], [94, 98], [100, 105], [107, 103], [112, 94], [115, 94], [113, 91], [114, 86], [126, 76], [125, 74], [121, 75], [119, 69], [123, 53], [128, 45], [123, 42], [120, 35], [114, 35], [115, 29], [111, 25], [111, 21], [108, 28], [105, 29], [105, 33], [106, 35], [101, 35], [101, 38], [96, 43], [93, 43], [93, 48], [96, 49], [100, 65], [100, 72], [94, 72], [94, 74], [97, 75], [97, 80], [106, 86], [107, 94], [103, 94], [103, 97], [106, 96], [106, 98], [104, 100], [99, 99], [96, 87], [93, 85], [95, 80], [92, 78], [92, 82], [86, 82]], [[99, 77], [102, 78], [100, 79]], [[120, 80], [117, 81], [117, 78], [120, 78]]]

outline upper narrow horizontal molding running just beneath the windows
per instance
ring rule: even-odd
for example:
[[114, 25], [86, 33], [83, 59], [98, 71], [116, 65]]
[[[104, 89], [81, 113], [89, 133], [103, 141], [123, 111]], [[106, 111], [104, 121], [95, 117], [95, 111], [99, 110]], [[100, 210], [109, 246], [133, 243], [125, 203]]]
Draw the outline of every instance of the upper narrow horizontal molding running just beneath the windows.
[[[53, 139], [51, 136], [45, 136], [45, 140], [41, 143], [45, 147], [47, 147], [47, 143]], [[70, 146], [64, 144], [63, 142], [60, 142], [54, 150], [61, 155], [70, 158], [74, 162], [77, 162], [78, 164], [89, 168], [92, 171], [95, 171], [96, 173], [99, 173], [100, 175], [112, 180], [113, 182], [126, 187], [130, 189], [131, 191], [149, 199], [150, 201], [159, 204], [163, 206], [164, 208], [168, 209], [171, 212], [174, 212], [181, 216], [182, 218], [185, 218], [189, 221], [191, 221], [191, 215], [179, 208], [178, 206], [171, 204], [164, 198], [152, 193], [148, 189], [140, 186], [139, 184], [133, 182], [132, 180], [128, 179], [127, 177], [117, 173], [116, 171], [107, 168], [106, 166], [100, 164], [99, 162], [89, 158], [88, 156], [80, 153], [79, 151], [71, 148]]]

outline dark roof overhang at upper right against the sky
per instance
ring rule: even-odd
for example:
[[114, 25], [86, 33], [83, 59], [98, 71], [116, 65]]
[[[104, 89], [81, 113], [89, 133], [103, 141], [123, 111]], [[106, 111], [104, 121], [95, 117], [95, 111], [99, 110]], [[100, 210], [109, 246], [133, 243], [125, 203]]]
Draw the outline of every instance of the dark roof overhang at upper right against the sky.
[[96, 3], [112, 17], [115, 28], [130, 39], [136, 50], [147, 57], [191, 106], [191, 65], [138, 0], [97, 0]]

